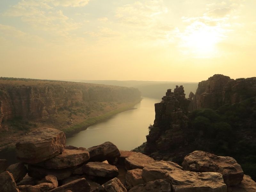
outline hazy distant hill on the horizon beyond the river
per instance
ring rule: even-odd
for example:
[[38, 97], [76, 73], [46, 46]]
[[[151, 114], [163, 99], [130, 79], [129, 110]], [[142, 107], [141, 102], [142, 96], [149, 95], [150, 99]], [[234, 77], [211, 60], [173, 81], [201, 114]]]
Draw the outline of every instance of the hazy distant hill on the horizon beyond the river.
[[196, 92], [198, 83], [195, 82], [172, 82], [172, 81], [116, 81], [116, 80], [83, 80], [83, 83], [117, 85], [138, 88], [142, 97], [161, 99], [163, 92], [174, 89], [176, 85], [183, 85], [185, 94]]

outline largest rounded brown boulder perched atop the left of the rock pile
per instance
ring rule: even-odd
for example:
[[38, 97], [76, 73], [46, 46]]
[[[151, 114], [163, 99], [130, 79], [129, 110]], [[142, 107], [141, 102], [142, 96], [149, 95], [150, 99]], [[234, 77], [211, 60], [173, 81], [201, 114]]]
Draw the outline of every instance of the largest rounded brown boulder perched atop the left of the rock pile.
[[28, 133], [16, 143], [17, 159], [36, 164], [60, 154], [66, 145], [65, 133], [41, 127]]

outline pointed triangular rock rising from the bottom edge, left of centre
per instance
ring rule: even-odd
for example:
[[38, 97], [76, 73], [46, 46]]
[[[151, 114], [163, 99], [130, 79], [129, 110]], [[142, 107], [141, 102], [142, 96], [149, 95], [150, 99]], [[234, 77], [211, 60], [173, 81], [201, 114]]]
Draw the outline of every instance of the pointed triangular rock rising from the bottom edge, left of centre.
[[127, 192], [121, 181], [114, 178], [91, 192]]

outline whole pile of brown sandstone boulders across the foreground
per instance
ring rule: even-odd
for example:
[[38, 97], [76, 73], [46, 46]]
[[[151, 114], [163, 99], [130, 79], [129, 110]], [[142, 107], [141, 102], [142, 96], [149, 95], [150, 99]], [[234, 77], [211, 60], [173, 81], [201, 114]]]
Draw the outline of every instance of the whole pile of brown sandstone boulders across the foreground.
[[255, 192], [256, 183], [231, 157], [188, 154], [182, 167], [111, 142], [92, 148], [65, 146], [52, 128], [29, 133], [16, 144], [21, 163], [0, 160], [1, 192]]

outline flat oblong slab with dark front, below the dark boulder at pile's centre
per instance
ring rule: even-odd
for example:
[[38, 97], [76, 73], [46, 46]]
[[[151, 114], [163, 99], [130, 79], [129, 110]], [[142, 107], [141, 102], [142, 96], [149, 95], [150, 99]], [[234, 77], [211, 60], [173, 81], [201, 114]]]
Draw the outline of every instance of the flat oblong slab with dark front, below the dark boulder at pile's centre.
[[116, 177], [118, 169], [114, 165], [102, 162], [89, 162], [83, 166], [83, 172], [97, 177]]

